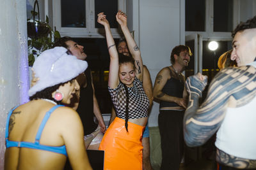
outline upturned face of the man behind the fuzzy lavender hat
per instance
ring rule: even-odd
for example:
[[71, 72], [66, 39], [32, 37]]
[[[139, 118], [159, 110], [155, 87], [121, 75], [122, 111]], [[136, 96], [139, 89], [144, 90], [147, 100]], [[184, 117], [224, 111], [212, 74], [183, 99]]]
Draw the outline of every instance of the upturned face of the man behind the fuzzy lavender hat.
[[87, 55], [84, 53], [84, 47], [81, 45], [78, 45], [76, 42], [69, 40], [66, 42], [68, 46], [68, 50], [72, 52], [72, 55], [76, 56], [79, 60], [86, 59]]

